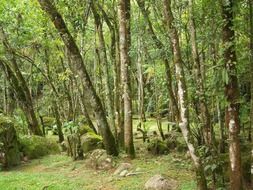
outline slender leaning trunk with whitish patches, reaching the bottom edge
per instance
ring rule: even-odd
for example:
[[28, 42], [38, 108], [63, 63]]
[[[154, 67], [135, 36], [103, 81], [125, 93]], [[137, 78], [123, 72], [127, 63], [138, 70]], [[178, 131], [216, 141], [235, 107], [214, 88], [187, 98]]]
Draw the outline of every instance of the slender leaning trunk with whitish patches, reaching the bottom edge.
[[168, 33], [170, 35], [171, 45], [173, 49], [173, 58], [176, 69], [176, 78], [178, 82], [178, 101], [180, 110], [180, 124], [179, 127], [182, 131], [184, 140], [188, 146], [191, 158], [195, 165], [197, 174], [197, 184], [199, 190], [207, 190], [206, 178], [200, 157], [196, 153], [194, 146], [193, 136], [189, 128], [189, 110], [187, 102], [187, 88], [184, 78], [183, 61], [181, 57], [181, 50], [179, 45], [179, 38], [177, 30], [174, 26], [174, 17], [171, 11], [171, 1], [163, 0], [164, 5], [164, 18], [166, 21]]

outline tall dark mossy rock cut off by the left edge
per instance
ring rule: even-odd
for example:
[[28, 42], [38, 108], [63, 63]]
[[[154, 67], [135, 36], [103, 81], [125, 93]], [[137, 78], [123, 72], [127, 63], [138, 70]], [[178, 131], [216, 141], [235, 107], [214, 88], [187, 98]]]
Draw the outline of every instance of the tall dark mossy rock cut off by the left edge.
[[20, 163], [18, 139], [13, 121], [3, 115], [0, 115], [0, 154], [4, 168]]

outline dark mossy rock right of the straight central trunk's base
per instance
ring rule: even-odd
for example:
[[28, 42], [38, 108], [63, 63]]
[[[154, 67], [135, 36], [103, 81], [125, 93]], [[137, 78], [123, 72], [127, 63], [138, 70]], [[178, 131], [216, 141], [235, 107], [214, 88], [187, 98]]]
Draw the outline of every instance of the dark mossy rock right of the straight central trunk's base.
[[147, 150], [153, 155], [167, 154], [169, 149], [166, 142], [159, 139], [153, 139], [149, 142]]

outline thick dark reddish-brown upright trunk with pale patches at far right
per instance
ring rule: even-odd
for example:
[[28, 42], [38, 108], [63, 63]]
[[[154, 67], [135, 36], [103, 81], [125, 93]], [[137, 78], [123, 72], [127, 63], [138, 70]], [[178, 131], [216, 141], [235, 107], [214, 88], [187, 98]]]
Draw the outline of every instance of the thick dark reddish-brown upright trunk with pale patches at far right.
[[239, 123], [239, 88], [236, 76], [235, 31], [233, 25], [234, 1], [223, 1], [222, 14], [224, 20], [223, 43], [224, 62], [228, 73], [228, 83], [225, 84], [227, 99], [226, 127], [229, 133], [230, 158], [230, 190], [242, 189], [242, 169], [240, 152], [240, 123]]

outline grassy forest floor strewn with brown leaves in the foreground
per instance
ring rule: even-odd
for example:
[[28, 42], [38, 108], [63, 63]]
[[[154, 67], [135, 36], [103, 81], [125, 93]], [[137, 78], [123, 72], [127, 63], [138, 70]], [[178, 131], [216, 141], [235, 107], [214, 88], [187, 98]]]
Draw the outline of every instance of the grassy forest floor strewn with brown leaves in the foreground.
[[155, 174], [175, 179], [180, 190], [194, 190], [194, 172], [185, 154], [172, 152], [152, 156], [141, 140], [136, 142], [136, 159], [124, 154], [115, 162], [129, 162], [142, 171], [138, 175], [114, 176], [115, 169], [98, 171], [89, 169], [85, 161], [72, 161], [66, 154], [45, 156], [31, 160], [10, 171], [0, 173], [0, 190], [142, 190], [145, 182]]

